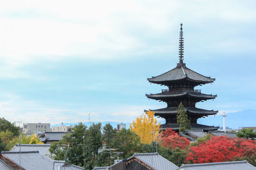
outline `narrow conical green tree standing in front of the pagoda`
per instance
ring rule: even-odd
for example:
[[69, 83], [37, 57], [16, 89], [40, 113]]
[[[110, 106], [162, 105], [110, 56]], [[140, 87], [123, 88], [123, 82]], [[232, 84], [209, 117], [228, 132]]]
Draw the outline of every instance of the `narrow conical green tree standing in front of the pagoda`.
[[177, 110], [177, 123], [180, 124], [179, 132], [186, 132], [187, 129], [190, 129], [190, 120], [188, 119], [188, 115], [186, 114], [186, 110], [182, 103], [179, 104], [179, 108]]

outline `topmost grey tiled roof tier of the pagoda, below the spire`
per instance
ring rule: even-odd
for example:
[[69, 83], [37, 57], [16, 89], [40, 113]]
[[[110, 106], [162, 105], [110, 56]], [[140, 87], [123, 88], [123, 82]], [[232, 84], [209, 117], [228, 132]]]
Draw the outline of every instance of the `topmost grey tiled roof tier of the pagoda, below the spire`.
[[212, 83], [215, 78], [207, 77], [202, 74], [196, 73], [195, 71], [189, 69], [184, 64], [175, 67], [174, 69], [167, 71], [159, 76], [152, 76], [152, 78], [147, 79], [150, 83], [157, 83], [162, 85], [168, 85], [172, 81], [188, 80], [195, 81], [198, 84], [202, 83]]

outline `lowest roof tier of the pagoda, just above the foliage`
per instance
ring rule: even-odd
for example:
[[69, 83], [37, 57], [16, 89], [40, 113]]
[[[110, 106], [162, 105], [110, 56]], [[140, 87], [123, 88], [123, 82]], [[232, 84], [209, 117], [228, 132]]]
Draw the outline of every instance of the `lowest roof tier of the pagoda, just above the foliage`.
[[[209, 126], [209, 125], [202, 125], [202, 124], [190, 124], [191, 130], [203, 130], [203, 131], [216, 131], [219, 129], [219, 126]], [[173, 130], [179, 130], [179, 124], [163, 124], [160, 125], [161, 130], [165, 130], [167, 127], [171, 127]]]

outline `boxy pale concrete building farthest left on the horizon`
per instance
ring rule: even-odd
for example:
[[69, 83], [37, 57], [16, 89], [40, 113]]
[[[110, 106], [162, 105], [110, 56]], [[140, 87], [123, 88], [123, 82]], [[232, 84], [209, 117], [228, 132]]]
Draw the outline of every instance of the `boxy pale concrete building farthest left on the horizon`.
[[51, 132], [51, 124], [41, 124], [41, 123], [26, 123], [23, 124], [23, 132], [35, 132], [36, 134], [40, 132]]

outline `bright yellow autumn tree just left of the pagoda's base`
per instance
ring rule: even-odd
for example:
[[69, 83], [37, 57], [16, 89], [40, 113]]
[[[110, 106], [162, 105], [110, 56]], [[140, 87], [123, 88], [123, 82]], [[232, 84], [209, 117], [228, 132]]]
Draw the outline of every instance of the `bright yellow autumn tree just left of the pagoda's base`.
[[157, 119], [154, 118], [155, 113], [153, 111], [147, 111], [146, 115], [140, 115], [136, 120], [132, 120], [130, 124], [131, 131], [140, 136], [141, 143], [150, 144], [153, 139], [156, 139], [159, 135], [160, 123], [157, 125]]

